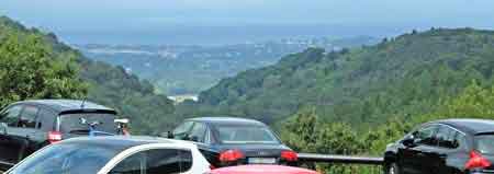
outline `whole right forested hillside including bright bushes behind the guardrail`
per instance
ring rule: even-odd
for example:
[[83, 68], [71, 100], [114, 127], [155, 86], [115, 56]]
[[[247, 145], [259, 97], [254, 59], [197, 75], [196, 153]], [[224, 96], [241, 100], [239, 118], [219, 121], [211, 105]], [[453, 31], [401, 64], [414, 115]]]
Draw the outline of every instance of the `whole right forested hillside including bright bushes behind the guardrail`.
[[[382, 155], [388, 143], [425, 121], [494, 119], [493, 68], [494, 32], [413, 32], [359, 49], [287, 56], [223, 80], [178, 113], [262, 119], [297, 151]], [[367, 166], [317, 169], [370, 173]]]

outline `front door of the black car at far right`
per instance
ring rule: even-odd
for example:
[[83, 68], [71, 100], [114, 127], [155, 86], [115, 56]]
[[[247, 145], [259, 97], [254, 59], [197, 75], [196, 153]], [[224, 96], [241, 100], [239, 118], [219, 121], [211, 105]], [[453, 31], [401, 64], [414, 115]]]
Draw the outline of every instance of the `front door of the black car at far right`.
[[437, 125], [425, 125], [412, 135], [415, 138], [414, 147], [406, 147], [398, 149], [400, 165], [405, 174], [424, 174], [428, 164], [426, 153], [435, 146], [435, 134]]

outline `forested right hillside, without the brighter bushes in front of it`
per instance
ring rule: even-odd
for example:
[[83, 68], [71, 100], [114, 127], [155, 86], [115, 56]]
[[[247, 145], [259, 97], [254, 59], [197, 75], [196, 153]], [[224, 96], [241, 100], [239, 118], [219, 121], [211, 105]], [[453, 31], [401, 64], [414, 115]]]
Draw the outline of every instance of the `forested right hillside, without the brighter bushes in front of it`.
[[[433, 111], [472, 80], [490, 81], [494, 32], [413, 32], [375, 46], [326, 53], [312, 48], [248, 70], [200, 95], [195, 113], [282, 120], [305, 106], [325, 121], [362, 127]], [[363, 126], [366, 127], [366, 126]]]

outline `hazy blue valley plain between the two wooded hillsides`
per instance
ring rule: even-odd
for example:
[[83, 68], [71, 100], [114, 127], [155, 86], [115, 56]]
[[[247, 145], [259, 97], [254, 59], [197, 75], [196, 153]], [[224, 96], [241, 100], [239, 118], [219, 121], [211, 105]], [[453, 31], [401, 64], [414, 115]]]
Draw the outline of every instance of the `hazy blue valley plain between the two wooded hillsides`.
[[221, 79], [276, 63], [282, 56], [310, 47], [328, 50], [372, 45], [367, 36], [349, 38], [281, 39], [224, 46], [194, 45], [76, 45], [88, 58], [122, 66], [147, 79], [157, 93], [198, 95]]

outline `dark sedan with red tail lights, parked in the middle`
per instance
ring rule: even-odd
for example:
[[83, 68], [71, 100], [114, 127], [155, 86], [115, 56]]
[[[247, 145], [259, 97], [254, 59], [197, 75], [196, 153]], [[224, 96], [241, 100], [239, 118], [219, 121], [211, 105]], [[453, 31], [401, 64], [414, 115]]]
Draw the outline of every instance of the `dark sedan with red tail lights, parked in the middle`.
[[202, 117], [184, 120], [169, 138], [198, 144], [216, 167], [239, 164], [296, 165], [297, 153], [265, 124], [244, 118]]

